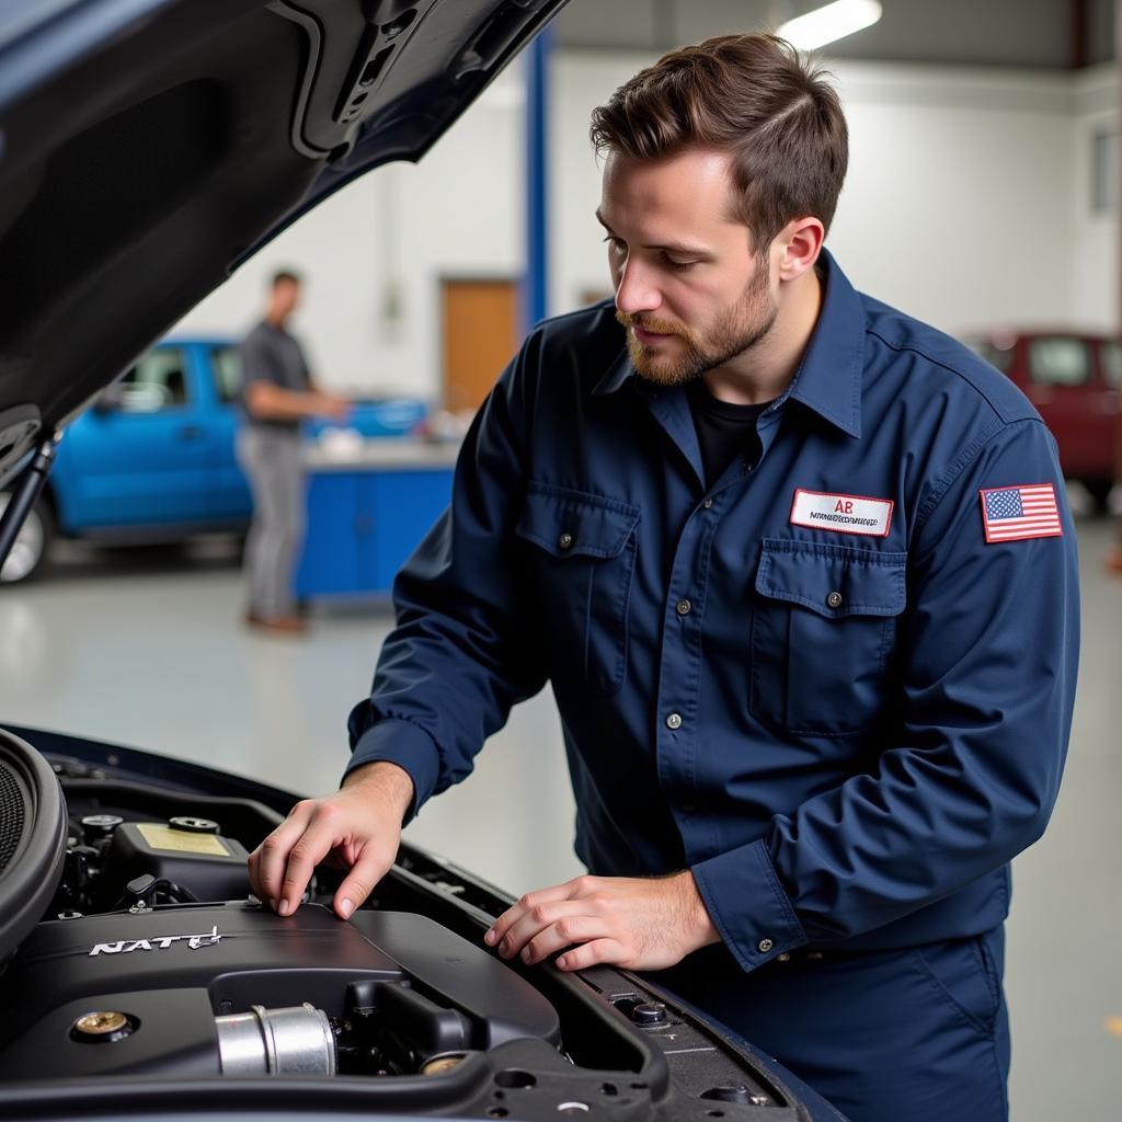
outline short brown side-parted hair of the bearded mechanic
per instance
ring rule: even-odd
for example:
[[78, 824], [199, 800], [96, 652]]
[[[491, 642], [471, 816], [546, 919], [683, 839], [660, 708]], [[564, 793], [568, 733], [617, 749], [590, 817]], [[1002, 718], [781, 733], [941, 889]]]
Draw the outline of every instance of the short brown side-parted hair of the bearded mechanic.
[[762, 251], [792, 219], [829, 229], [849, 159], [842, 103], [825, 72], [774, 35], [723, 35], [663, 55], [592, 111], [597, 153], [661, 159], [732, 155], [736, 215]]

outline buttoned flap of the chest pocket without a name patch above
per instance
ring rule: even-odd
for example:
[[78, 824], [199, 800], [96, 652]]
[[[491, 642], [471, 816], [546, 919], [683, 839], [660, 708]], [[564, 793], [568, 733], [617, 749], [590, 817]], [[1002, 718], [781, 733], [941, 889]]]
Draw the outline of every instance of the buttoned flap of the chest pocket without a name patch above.
[[553, 557], [618, 557], [638, 507], [601, 495], [531, 484], [515, 533]]

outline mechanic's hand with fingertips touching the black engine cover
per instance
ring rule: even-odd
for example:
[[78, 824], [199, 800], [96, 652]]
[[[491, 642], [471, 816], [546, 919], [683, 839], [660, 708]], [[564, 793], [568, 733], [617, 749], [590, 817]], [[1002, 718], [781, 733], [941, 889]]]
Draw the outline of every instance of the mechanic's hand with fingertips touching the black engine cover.
[[300, 907], [315, 866], [330, 856], [350, 870], [333, 901], [335, 914], [350, 919], [394, 863], [412, 800], [413, 781], [396, 764], [356, 767], [342, 790], [297, 802], [249, 855], [254, 893], [288, 916]]

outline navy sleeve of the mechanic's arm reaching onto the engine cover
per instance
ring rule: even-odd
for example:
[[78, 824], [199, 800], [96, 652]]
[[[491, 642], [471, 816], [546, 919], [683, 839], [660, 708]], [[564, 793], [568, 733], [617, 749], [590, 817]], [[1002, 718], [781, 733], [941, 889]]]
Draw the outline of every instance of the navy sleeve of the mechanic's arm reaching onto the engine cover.
[[387, 760], [412, 778], [408, 818], [466, 778], [511, 707], [545, 682], [515, 563], [525, 493], [525, 387], [531, 335], [477, 414], [457, 461], [452, 500], [394, 582], [396, 627], [370, 697], [348, 723], [355, 767]]

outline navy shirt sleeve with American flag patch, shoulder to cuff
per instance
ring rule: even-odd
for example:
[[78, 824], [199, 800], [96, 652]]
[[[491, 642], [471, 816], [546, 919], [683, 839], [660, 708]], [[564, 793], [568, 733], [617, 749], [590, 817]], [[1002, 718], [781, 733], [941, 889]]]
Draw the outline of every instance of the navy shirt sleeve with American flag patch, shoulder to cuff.
[[[1048, 486], [1058, 533], [1045, 514], [1023, 524], [1039, 536], [987, 540], [999, 534], [987, 534], [984, 490]], [[1003, 866], [1048, 822], [1079, 627], [1051, 435], [1038, 420], [1004, 425], [931, 487], [916, 521], [885, 748], [867, 772], [776, 813], [760, 842], [693, 868], [745, 969], [931, 904]]]

